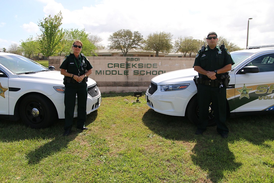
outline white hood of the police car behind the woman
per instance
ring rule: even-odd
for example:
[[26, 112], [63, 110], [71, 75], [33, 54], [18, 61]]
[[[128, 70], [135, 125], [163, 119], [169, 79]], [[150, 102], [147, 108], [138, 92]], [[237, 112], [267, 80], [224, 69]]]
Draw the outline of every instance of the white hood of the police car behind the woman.
[[[21, 78], [20, 81], [48, 83], [54, 86], [64, 87], [64, 75], [62, 75], [60, 71], [42, 71], [37, 73], [18, 74], [18, 77]], [[96, 82], [93, 79], [89, 78], [87, 85], [90, 86], [95, 83]]]

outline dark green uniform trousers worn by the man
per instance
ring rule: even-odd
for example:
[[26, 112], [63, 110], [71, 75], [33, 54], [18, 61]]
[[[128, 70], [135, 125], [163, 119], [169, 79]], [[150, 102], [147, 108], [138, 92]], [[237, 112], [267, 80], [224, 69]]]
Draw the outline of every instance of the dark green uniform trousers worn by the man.
[[228, 134], [226, 122], [226, 87], [198, 85], [199, 123], [198, 129], [205, 131], [209, 120], [209, 105], [212, 102], [217, 132]]

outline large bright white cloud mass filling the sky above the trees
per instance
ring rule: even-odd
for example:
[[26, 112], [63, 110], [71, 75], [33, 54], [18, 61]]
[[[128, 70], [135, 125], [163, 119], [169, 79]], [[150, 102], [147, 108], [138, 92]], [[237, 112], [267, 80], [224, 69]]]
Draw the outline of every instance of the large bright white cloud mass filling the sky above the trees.
[[[230, 0], [208, 3], [203, 0], [103, 0], [91, 4], [88, 1], [77, 4], [73, 10], [66, 9], [59, 0], [40, 0], [46, 5], [45, 16], [62, 12], [62, 27], [65, 29], [85, 29], [107, 38], [120, 29], [139, 31], [144, 37], [156, 31], [165, 31], [179, 36], [203, 39], [208, 32], [216, 32], [245, 48], [247, 21], [249, 26], [249, 46], [273, 44], [274, 24], [271, 19], [274, 9], [272, 0]], [[41, 18], [40, 18], [41, 19]], [[260, 37], [258, 39], [257, 37]]]

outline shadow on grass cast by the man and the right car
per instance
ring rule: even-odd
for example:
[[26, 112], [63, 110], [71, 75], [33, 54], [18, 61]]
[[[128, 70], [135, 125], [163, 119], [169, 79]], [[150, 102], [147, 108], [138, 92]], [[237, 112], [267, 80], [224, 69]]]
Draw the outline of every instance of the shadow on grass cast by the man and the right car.
[[192, 161], [208, 171], [206, 179], [212, 182], [222, 182], [225, 171], [236, 171], [242, 165], [235, 162], [235, 156], [228, 146], [229, 142], [246, 139], [255, 145], [262, 145], [265, 140], [274, 138], [273, 115], [227, 119], [230, 130], [227, 139], [221, 138], [216, 126], [207, 127], [203, 135], [195, 135], [196, 126], [186, 117], [164, 115], [152, 109], [147, 110], [142, 121], [150, 130], [164, 138], [196, 142], [192, 149]]

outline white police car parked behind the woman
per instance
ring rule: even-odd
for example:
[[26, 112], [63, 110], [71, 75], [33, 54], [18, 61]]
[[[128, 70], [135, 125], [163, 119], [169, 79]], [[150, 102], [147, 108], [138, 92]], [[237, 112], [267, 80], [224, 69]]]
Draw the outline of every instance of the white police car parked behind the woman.
[[[64, 115], [64, 76], [16, 54], [0, 52], [0, 118], [45, 128]], [[100, 106], [101, 93], [89, 78], [87, 114]], [[77, 99], [74, 117], [77, 117]]]

